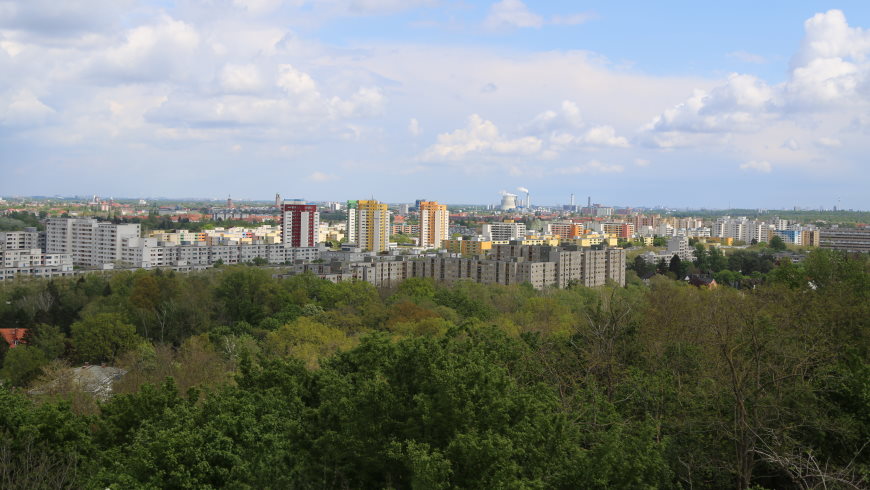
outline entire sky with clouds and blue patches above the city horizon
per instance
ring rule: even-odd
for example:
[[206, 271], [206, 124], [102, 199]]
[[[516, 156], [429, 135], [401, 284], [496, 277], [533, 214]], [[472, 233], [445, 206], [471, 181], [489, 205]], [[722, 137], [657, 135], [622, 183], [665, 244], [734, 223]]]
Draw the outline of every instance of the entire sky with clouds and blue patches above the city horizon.
[[0, 0], [0, 196], [870, 209], [870, 2]]

